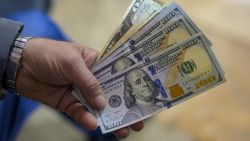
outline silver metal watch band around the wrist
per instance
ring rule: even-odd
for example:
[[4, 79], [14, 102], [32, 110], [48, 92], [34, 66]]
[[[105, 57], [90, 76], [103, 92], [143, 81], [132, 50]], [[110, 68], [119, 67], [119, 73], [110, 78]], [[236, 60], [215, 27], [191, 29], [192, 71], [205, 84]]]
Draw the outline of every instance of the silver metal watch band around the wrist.
[[10, 92], [16, 92], [17, 71], [20, 67], [23, 49], [30, 38], [19, 36], [11, 47], [3, 81], [4, 88]]

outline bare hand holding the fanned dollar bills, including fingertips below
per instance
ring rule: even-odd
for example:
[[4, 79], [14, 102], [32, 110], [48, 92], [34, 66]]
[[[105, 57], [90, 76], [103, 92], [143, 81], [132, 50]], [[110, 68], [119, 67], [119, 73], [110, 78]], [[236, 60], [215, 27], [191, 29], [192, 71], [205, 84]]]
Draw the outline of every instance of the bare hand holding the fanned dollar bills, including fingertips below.
[[[71, 91], [72, 86], [76, 86], [97, 110], [105, 106], [102, 89], [89, 70], [97, 55], [96, 50], [74, 43], [31, 39], [22, 55], [16, 90], [22, 96], [67, 113], [83, 127], [95, 130], [95, 117], [71, 95]], [[140, 131], [143, 122], [130, 127]], [[117, 130], [114, 134], [125, 138], [129, 128]]]

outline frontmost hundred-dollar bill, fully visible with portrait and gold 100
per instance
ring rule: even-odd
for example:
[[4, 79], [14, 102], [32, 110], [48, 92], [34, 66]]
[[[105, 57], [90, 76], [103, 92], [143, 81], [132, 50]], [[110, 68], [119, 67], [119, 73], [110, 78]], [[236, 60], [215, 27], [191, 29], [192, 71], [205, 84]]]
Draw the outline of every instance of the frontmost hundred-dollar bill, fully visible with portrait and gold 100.
[[[102, 132], [129, 126], [223, 83], [219, 68], [206, 37], [197, 34], [112, 75], [100, 83], [107, 100], [98, 112]], [[174, 76], [172, 70], [177, 70]]]

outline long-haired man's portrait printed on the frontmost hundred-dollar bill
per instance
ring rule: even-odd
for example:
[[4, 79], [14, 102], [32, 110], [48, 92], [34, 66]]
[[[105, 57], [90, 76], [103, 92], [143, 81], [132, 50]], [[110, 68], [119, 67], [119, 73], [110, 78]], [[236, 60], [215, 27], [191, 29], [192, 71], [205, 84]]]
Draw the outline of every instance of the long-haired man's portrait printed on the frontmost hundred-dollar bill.
[[145, 71], [137, 69], [129, 72], [124, 79], [124, 86], [124, 100], [129, 110], [123, 123], [139, 119], [163, 107], [156, 102], [158, 89]]

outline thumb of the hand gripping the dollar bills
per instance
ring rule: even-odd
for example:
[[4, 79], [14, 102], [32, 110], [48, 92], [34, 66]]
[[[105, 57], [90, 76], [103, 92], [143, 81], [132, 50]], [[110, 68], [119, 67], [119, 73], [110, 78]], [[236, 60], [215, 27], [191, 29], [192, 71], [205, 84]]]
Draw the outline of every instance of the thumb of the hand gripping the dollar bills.
[[85, 100], [95, 109], [105, 106], [105, 98], [98, 80], [86, 66], [82, 56], [71, 61], [70, 72], [74, 85], [80, 90]]

